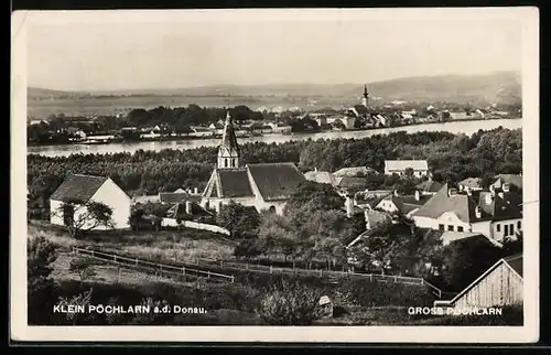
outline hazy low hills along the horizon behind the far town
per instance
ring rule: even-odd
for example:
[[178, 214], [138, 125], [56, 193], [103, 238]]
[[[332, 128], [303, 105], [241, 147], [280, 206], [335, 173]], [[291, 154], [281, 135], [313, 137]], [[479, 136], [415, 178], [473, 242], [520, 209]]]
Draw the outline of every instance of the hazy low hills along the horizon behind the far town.
[[[90, 98], [99, 96], [325, 96], [354, 100], [364, 84], [267, 84], [219, 85], [175, 89], [140, 89], [118, 92], [60, 92], [43, 88], [28, 89], [29, 100]], [[488, 75], [419, 76], [368, 83], [371, 96], [382, 101], [469, 101], [487, 100], [510, 104], [521, 100], [520, 74], [497, 72]]]

